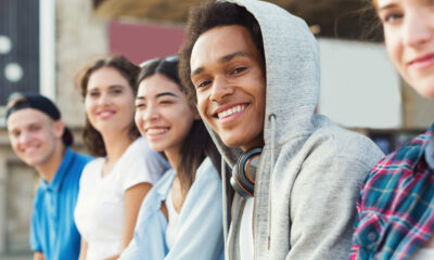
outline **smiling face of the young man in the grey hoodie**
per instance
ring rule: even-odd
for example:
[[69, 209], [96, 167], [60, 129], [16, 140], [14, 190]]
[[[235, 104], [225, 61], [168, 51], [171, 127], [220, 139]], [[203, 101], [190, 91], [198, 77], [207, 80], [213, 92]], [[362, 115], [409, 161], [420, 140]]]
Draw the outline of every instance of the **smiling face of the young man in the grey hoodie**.
[[201, 35], [190, 66], [202, 117], [230, 147], [264, 144], [266, 82], [248, 30], [221, 26]]

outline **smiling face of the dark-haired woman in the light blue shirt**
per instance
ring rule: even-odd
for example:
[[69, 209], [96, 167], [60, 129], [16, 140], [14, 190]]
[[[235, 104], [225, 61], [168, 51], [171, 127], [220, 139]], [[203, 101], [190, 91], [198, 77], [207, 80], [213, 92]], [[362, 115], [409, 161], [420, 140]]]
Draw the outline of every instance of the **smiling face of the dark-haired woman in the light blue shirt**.
[[136, 125], [152, 150], [178, 153], [199, 114], [179, 86], [162, 74], [143, 79], [136, 99]]

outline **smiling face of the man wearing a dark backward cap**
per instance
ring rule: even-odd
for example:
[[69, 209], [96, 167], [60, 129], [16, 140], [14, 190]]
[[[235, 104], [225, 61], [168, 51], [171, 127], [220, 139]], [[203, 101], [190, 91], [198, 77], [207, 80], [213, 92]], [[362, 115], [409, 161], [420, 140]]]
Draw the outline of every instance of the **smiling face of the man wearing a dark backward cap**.
[[28, 166], [48, 164], [56, 152], [56, 145], [62, 145], [63, 123], [51, 120], [37, 109], [16, 110], [7, 123], [13, 151]]

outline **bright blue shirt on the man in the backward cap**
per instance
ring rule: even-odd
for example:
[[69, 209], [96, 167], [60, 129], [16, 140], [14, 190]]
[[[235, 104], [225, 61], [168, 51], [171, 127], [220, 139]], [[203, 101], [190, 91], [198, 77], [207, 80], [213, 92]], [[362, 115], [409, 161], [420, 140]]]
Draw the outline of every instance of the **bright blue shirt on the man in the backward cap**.
[[92, 157], [66, 150], [53, 180], [41, 180], [34, 199], [30, 247], [47, 260], [78, 259], [80, 235], [74, 222], [82, 168]]

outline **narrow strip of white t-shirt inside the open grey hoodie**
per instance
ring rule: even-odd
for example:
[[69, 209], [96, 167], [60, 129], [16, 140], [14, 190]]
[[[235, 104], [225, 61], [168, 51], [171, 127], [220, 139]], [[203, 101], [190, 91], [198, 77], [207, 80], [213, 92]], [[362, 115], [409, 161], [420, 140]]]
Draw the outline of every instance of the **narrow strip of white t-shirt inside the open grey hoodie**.
[[245, 203], [240, 225], [240, 257], [241, 260], [253, 260], [253, 199]]

